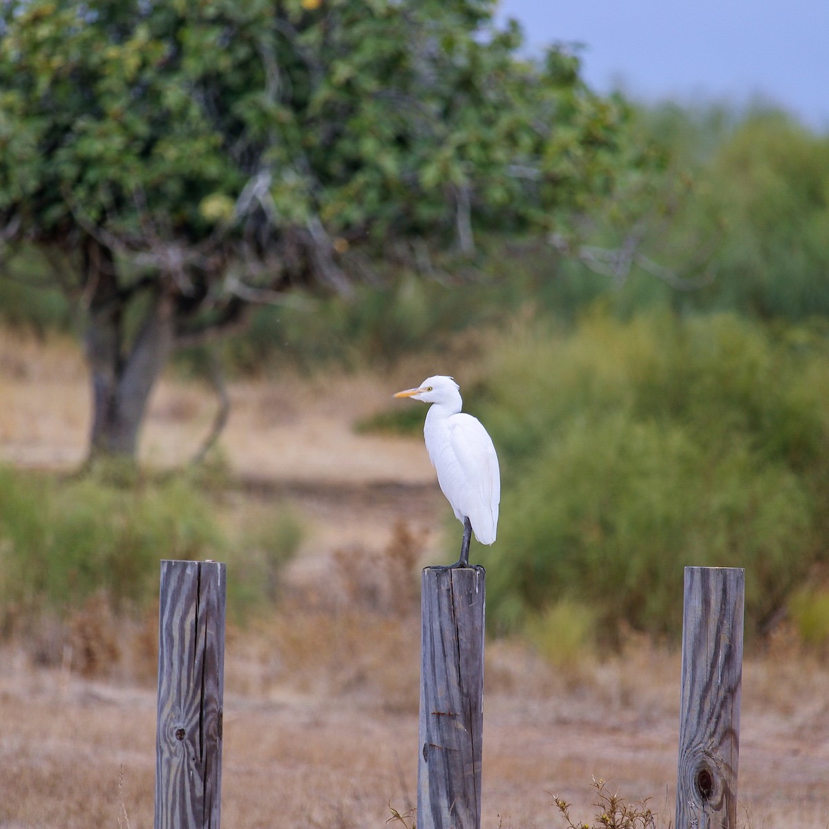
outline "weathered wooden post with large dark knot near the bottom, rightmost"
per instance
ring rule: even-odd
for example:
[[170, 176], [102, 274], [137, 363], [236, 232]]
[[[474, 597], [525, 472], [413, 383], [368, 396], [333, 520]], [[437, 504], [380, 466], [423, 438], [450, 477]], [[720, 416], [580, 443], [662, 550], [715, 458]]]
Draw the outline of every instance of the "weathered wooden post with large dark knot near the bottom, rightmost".
[[735, 829], [745, 577], [686, 567], [676, 829]]

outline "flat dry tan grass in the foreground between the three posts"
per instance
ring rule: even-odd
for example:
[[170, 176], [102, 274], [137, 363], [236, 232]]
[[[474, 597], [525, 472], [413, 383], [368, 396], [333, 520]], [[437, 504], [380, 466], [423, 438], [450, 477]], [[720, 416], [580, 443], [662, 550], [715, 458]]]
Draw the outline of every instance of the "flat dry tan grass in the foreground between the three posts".
[[[274, 666], [279, 657], [272, 652], [278, 644], [273, 631], [237, 631], [230, 637], [222, 801], [227, 825], [272, 827], [279, 815], [279, 826], [286, 829], [381, 826], [390, 817], [389, 803], [401, 812], [410, 807], [416, 706], [412, 701], [386, 705], [383, 671], [369, 676], [378, 652], [397, 641], [400, 628], [396, 633], [394, 628], [400, 624], [398, 618], [386, 630], [376, 618], [355, 614], [337, 634], [351, 652], [335, 657], [336, 649], [323, 645], [321, 663], [314, 664], [313, 654], [333, 628], [326, 620], [313, 630], [308, 617], [301, 628], [308, 635], [307, 651], [294, 653], [290, 671], [284, 663]], [[378, 645], [377, 638], [384, 641]], [[354, 660], [365, 671], [361, 676], [349, 673], [347, 662]], [[394, 661], [416, 696], [417, 648], [401, 642]], [[528, 693], [493, 689], [487, 676], [483, 826], [563, 826], [550, 792], [572, 804], [572, 816], [592, 815], [593, 777], [607, 778], [608, 790], [618, 788], [628, 802], [650, 798], [657, 826], [667, 826], [676, 705], [608, 703], [606, 686], [613, 681], [629, 686], [636, 700], [655, 694], [667, 701], [677, 695], [675, 662], [671, 654], [652, 651], [635, 664], [604, 663], [572, 691], [526, 655], [516, 657], [518, 672], [505, 685], [526, 683]], [[153, 689], [32, 667], [11, 650], [2, 652], [2, 665], [0, 826], [114, 825], [122, 800], [132, 827], [149, 826]], [[653, 672], [643, 674], [644, 665]], [[799, 700], [807, 715], [788, 715], [755, 698], [748, 678], [771, 680], [779, 661], [749, 661], [746, 667], [740, 752], [744, 826], [825, 827], [827, 717], [810, 710], [808, 699]], [[499, 682], [506, 670], [502, 664]], [[812, 670], [816, 686], [825, 688], [826, 669]], [[391, 696], [396, 692], [393, 687]]]

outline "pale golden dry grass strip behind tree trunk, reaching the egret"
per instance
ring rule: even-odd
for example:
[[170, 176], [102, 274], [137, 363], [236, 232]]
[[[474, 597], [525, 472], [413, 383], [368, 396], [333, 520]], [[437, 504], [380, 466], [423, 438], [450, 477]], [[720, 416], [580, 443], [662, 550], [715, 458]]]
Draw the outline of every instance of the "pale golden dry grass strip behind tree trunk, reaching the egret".
[[[264, 481], [432, 482], [419, 440], [389, 441], [351, 429], [356, 419], [388, 405], [397, 382], [369, 374], [301, 380], [284, 372], [278, 384], [230, 383], [222, 447], [231, 469]], [[0, 400], [0, 460], [63, 469], [83, 461], [90, 393], [75, 342], [0, 329]], [[148, 407], [142, 462], [157, 468], [186, 463], [215, 409], [206, 386], [162, 378]]]

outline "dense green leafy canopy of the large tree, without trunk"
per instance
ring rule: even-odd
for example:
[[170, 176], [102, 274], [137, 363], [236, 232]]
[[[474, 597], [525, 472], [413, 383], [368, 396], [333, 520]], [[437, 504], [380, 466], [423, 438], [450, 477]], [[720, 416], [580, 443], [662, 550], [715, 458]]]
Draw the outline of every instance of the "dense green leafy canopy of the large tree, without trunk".
[[8, 2], [0, 214], [136, 249], [252, 248], [266, 225], [343, 253], [366, 233], [453, 236], [468, 197], [476, 225], [555, 225], [612, 187], [625, 114], [572, 56], [519, 60], [493, 8]]

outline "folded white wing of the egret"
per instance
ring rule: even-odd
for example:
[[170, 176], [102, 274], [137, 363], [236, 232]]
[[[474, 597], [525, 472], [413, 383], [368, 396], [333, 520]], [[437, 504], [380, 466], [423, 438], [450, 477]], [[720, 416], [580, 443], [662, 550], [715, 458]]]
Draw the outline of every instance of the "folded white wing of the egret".
[[478, 418], [453, 414], [449, 418], [449, 445], [462, 473], [459, 505], [463, 514], [469, 516], [478, 541], [492, 544], [501, 501], [501, 473], [492, 438]]

